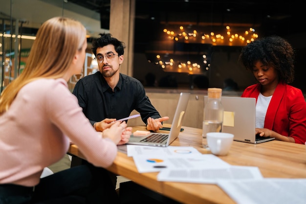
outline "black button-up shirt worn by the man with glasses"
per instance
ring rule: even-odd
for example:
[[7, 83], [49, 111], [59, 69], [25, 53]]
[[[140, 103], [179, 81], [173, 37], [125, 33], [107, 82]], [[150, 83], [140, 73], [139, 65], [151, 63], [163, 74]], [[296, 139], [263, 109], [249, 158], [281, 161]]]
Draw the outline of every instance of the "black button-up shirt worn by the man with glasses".
[[114, 91], [97, 71], [80, 79], [72, 93], [78, 98], [83, 113], [92, 125], [105, 118], [128, 117], [133, 110], [140, 113], [145, 124], [149, 117], [161, 117], [151, 104], [141, 82], [125, 74], [120, 73]]

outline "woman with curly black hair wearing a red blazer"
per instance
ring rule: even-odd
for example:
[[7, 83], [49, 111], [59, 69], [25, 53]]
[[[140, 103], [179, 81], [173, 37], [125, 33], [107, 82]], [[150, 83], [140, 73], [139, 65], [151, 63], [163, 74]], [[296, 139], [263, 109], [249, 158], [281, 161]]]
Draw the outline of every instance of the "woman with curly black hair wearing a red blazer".
[[256, 98], [256, 134], [305, 144], [306, 102], [294, 80], [295, 51], [279, 36], [255, 40], [242, 48], [240, 62], [252, 71], [257, 84], [241, 97]]

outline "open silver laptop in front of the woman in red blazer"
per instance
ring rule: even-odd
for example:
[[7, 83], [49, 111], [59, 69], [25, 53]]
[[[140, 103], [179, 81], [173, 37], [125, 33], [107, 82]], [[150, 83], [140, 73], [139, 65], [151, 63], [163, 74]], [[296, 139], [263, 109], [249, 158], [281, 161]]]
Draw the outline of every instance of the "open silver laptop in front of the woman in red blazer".
[[[206, 104], [208, 96], [204, 96]], [[224, 108], [223, 133], [234, 135], [235, 141], [258, 144], [275, 139], [255, 134], [256, 99], [244, 97], [221, 96]]]

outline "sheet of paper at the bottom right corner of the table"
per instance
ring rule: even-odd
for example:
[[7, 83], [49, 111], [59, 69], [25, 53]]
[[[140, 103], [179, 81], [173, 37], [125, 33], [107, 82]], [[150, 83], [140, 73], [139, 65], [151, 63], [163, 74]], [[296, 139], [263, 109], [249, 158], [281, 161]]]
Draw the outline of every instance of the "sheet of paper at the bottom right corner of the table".
[[237, 204], [306, 204], [306, 179], [218, 181]]

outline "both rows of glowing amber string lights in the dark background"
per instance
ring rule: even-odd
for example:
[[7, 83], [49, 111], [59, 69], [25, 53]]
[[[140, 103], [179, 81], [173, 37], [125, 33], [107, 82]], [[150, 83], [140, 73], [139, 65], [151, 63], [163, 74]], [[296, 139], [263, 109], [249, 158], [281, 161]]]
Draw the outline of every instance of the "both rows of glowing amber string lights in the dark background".
[[185, 30], [183, 26], [176, 30], [164, 28], [163, 41], [151, 44], [146, 51], [148, 61], [168, 72], [203, 74], [211, 67], [213, 46], [244, 46], [258, 38], [254, 28], [212, 29], [214, 32]]

